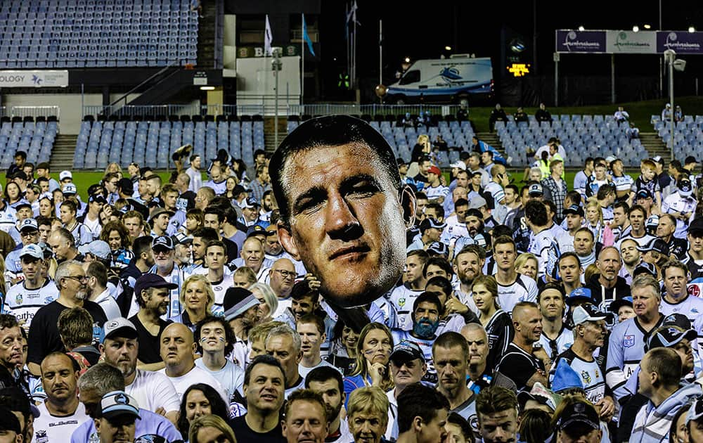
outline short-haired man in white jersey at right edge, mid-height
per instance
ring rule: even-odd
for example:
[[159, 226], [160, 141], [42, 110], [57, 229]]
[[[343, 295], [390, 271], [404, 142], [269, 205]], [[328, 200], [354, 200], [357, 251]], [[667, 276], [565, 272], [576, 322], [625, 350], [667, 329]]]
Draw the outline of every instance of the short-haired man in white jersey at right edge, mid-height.
[[664, 296], [659, 304], [659, 312], [664, 316], [683, 314], [694, 322], [703, 314], [703, 299], [688, 294], [688, 268], [678, 260], [669, 260], [662, 267]]

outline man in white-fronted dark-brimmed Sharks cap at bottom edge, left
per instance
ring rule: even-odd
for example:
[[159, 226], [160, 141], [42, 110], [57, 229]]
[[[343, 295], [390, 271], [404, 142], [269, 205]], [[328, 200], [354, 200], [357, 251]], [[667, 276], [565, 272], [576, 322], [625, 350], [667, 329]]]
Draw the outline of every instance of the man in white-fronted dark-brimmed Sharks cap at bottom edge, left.
[[105, 394], [100, 408], [93, 418], [100, 443], [133, 442], [139, 405], [136, 400], [122, 391]]

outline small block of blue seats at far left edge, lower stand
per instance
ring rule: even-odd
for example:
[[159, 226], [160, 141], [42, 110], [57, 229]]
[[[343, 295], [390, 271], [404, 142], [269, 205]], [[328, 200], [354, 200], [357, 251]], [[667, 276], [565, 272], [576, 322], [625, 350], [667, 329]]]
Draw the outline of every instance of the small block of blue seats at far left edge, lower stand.
[[19, 117], [13, 120], [4, 117], [0, 124], [0, 169], [10, 167], [18, 150], [25, 151], [27, 162], [34, 165], [48, 162], [58, 134], [58, 122], [55, 119], [47, 122], [43, 118], [34, 122], [32, 117], [25, 121]]

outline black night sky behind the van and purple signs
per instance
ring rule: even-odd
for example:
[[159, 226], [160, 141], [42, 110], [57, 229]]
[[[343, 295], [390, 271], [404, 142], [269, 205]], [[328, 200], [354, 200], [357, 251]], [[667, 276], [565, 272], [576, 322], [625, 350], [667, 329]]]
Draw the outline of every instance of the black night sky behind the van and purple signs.
[[[348, 1], [348, 0], [347, 0]], [[536, 0], [535, 0], [536, 1]], [[345, 1], [323, 1], [320, 41], [323, 48], [323, 65], [345, 64], [344, 46]], [[531, 48], [534, 32], [533, 1], [462, 1], [445, 2], [432, 8], [432, 2], [423, 1], [422, 7], [410, 2], [357, 0], [359, 11], [357, 45], [359, 47], [358, 72], [378, 77], [378, 20], [384, 29], [384, 79], [389, 83], [399, 68], [402, 58], [439, 58], [451, 46], [453, 53], [475, 53], [491, 56], [494, 66], [501, 56], [501, 28], [510, 29], [524, 36]], [[694, 0], [663, 1], [662, 27], [664, 30], [685, 30], [693, 25], [703, 30], [703, 3]], [[659, 24], [658, 0], [619, 1], [536, 1], [537, 69], [539, 74], [550, 75], [554, 70], [554, 30], [576, 28], [626, 29], [633, 25]], [[627, 57], [627, 56], [625, 56]], [[644, 60], [645, 56], [633, 60]], [[336, 60], [335, 60], [336, 58]], [[599, 59], [600, 58], [600, 59]], [[689, 60], [691, 63], [692, 60]], [[607, 56], [582, 56], [572, 60], [562, 58], [565, 70], [610, 75], [610, 58]], [[694, 61], [694, 65], [701, 63]], [[650, 66], [651, 65], [651, 66]], [[619, 63], [621, 75], [649, 75], [654, 63]], [[688, 69], [687, 69], [688, 70]], [[589, 72], [590, 71], [590, 72]], [[688, 70], [690, 72], [690, 70]], [[654, 72], [656, 69], [654, 68]]]

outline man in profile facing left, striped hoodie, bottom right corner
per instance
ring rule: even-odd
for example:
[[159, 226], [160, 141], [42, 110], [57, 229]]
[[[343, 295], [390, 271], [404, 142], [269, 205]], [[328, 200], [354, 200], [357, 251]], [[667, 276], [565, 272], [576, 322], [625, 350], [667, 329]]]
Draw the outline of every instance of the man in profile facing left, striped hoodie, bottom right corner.
[[697, 383], [681, 387], [681, 357], [673, 349], [650, 349], [640, 361], [638, 392], [649, 399], [635, 418], [630, 442], [666, 441], [673, 417], [703, 394]]

